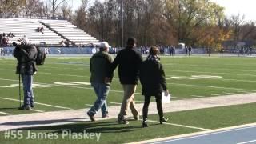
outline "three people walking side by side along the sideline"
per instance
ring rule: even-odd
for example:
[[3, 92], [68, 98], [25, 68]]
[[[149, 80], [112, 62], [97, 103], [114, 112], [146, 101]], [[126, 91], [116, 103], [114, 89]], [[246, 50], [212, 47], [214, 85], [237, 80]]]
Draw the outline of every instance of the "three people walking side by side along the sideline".
[[102, 118], [108, 116], [106, 98], [110, 90], [110, 83], [114, 76], [114, 70], [118, 66], [118, 76], [124, 91], [121, 110], [118, 114], [120, 124], [129, 124], [127, 120], [127, 110], [130, 110], [134, 120], [139, 120], [139, 112], [135, 106], [134, 93], [138, 82], [142, 83], [142, 95], [145, 96], [143, 106], [142, 126], [147, 127], [147, 114], [150, 104], [150, 97], [154, 96], [157, 102], [159, 122], [166, 122], [162, 110], [162, 91], [169, 93], [166, 86], [165, 72], [160, 58], [158, 58], [158, 47], [152, 46], [150, 54], [145, 61], [142, 55], [134, 50], [136, 46], [135, 38], [128, 38], [126, 48], [119, 51], [116, 58], [108, 54], [109, 44], [102, 42], [100, 51], [90, 58], [90, 82], [97, 95], [94, 106], [87, 112], [91, 121], [95, 121], [94, 115], [99, 109], [102, 111]]

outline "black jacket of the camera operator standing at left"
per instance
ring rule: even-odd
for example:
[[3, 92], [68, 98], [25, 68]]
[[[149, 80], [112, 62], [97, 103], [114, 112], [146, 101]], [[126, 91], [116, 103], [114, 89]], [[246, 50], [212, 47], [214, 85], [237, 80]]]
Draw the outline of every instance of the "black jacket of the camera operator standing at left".
[[38, 71], [35, 58], [38, 51], [35, 46], [19, 46], [14, 49], [14, 57], [18, 60], [16, 67], [16, 74], [33, 75], [35, 71]]

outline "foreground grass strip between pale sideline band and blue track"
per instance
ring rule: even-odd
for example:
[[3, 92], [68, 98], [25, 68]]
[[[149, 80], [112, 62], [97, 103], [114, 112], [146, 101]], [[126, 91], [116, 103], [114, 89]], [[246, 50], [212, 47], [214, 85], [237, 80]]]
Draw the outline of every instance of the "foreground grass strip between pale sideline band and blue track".
[[[238, 105], [238, 106], [222, 106], [202, 110], [186, 110], [182, 112], [174, 112], [166, 114], [171, 118], [170, 123], [198, 126], [206, 129], [218, 129], [228, 126], [237, 126], [246, 123], [256, 122], [255, 103]], [[158, 121], [158, 115], [150, 115], [150, 120]], [[194, 130], [182, 126], [159, 125], [155, 122], [149, 122], [148, 128], [142, 128], [141, 121], [130, 121], [129, 125], [119, 125], [116, 119], [110, 119], [98, 122], [78, 122], [62, 126], [46, 126], [35, 127], [29, 129], [19, 129], [22, 131], [24, 138], [21, 139], [5, 139], [4, 132], [0, 132], [1, 143], [34, 143], [34, 139], [27, 138], [28, 133], [36, 134], [57, 134], [58, 138], [37, 139], [37, 143], [124, 143], [136, 142], [152, 138], [162, 138], [174, 136], [178, 134], [188, 134], [202, 130]], [[63, 131], [70, 130], [74, 134], [83, 133], [100, 133], [99, 141], [95, 139], [76, 139], [64, 137]], [[17, 130], [16, 130], [17, 132]]]

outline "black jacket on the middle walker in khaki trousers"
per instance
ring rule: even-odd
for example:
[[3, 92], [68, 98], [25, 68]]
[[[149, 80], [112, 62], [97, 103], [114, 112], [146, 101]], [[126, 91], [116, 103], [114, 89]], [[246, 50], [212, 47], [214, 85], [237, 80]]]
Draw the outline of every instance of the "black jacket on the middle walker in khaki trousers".
[[138, 84], [138, 71], [142, 63], [142, 55], [133, 48], [126, 47], [118, 52], [111, 66], [111, 71], [118, 66], [118, 76], [122, 84]]

